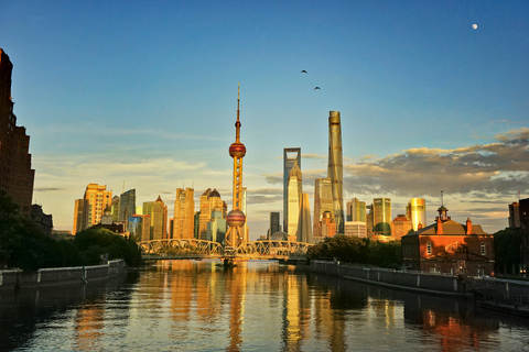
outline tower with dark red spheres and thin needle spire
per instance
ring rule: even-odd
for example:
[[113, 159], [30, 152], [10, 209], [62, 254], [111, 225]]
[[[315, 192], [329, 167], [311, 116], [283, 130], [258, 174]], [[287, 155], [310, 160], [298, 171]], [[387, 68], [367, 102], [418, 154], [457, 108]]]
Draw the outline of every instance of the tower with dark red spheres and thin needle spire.
[[239, 121], [239, 92], [237, 90], [237, 121], [235, 122], [235, 143], [229, 146], [229, 155], [234, 158], [234, 204], [233, 210], [228, 213], [228, 232], [226, 233], [226, 248], [236, 248], [239, 241], [245, 240], [242, 227], [246, 223], [246, 216], [242, 207], [242, 157], [246, 155], [246, 146], [240, 143]]

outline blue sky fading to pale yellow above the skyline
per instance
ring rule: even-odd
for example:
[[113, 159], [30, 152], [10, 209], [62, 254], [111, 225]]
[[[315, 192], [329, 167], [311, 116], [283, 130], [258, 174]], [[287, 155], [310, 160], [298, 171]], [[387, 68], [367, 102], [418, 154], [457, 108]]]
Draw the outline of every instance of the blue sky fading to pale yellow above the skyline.
[[33, 202], [57, 230], [90, 183], [161, 196], [170, 216], [179, 187], [231, 209], [240, 82], [250, 240], [282, 212], [284, 147], [301, 147], [313, 202], [328, 111], [345, 201], [391, 198], [395, 218], [424, 198], [429, 223], [443, 201], [494, 233], [529, 197], [528, 19], [526, 0], [20, 0], [0, 2], [0, 47]]

